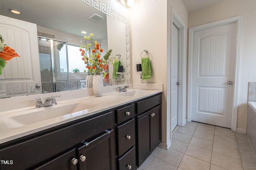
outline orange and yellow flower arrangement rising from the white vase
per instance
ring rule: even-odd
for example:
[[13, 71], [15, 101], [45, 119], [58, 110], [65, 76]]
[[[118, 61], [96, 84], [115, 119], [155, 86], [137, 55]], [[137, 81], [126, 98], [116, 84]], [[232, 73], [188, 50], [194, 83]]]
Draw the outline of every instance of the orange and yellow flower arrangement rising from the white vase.
[[[92, 75], [101, 75], [106, 77], [108, 74], [107, 70], [104, 70], [104, 66], [107, 64], [114, 64], [114, 58], [110, 57], [112, 49], [108, 50], [108, 52], [102, 57], [101, 53], [103, 49], [100, 48], [100, 44], [93, 40], [94, 35], [90, 33], [90, 36], [84, 36], [84, 44], [81, 45], [81, 55], [82, 61], [86, 64], [86, 68], [88, 71], [84, 70], [84, 72], [88, 72]], [[89, 41], [90, 43], [87, 43]], [[89, 56], [86, 55], [85, 50], [89, 51]]]

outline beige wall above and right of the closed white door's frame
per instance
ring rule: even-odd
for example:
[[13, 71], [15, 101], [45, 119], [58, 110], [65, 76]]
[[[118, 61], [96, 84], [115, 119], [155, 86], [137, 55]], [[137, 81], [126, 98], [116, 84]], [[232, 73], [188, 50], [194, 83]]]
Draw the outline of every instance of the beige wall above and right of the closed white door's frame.
[[213, 6], [190, 12], [188, 27], [243, 15], [242, 55], [238, 84], [237, 127], [246, 129], [248, 82], [256, 82], [256, 0], [225, 0]]

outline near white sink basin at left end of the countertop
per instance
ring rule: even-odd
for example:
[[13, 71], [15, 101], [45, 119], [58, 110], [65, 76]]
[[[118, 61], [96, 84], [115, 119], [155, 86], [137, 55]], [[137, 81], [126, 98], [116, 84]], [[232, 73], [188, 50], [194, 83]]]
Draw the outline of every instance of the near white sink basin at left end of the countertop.
[[78, 113], [76, 112], [78, 111], [86, 110], [96, 106], [97, 105], [87, 103], [62, 103], [49, 107], [28, 109], [28, 111], [26, 111], [26, 113], [24, 114], [6, 117], [5, 123], [10, 128], [16, 128], [44, 121], [47, 119], [52, 119], [59, 116], [65, 116], [64, 118], [71, 118], [77, 115]]

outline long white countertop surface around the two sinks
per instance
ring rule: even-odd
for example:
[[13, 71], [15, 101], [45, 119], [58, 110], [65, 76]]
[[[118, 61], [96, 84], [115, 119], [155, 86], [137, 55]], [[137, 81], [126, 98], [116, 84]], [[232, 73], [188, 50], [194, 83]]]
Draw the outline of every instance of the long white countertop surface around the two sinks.
[[[128, 92], [134, 91], [136, 95], [121, 96], [121, 95], [118, 95], [120, 94], [119, 92], [111, 92], [111, 93], [103, 94], [101, 97], [88, 96], [84, 98], [65, 100], [60, 102], [58, 102], [58, 98], [56, 98], [58, 104], [55, 106], [41, 107], [41, 108], [34, 108], [34, 106], [33, 107], [31, 106], [31, 107], [26, 107], [21, 109], [2, 111], [0, 112], [0, 144], [5, 143], [7, 141], [11, 141], [13, 139], [24, 137], [26, 135], [30, 135], [32, 133], [36, 133], [57, 125], [74, 121], [82, 117], [93, 115], [95, 113], [99, 113], [104, 110], [108, 110], [117, 106], [128, 104], [130, 102], [134, 102], [136, 100], [140, 100], [142, 98], [152, 96], [154, 94], [158, 94], [162, 92], [162, 90], [142, 90], [142, 89], [128, 89], [127, 91]], [[125, 92], [122, 92], [122, 93], [125, 93]], [[59, 117], [54, 117], [52, 119], [43, 120], [37, 123], [24, 125], [21, 127], [12, 128], [8, 126], [7, 119], [14, 115], [25, 114], [25, 113], [28, 113], [29, 111], [35, 111], [35, 109], [37, 109], [38, 111], [40, 110], [47, 111], [47, 109], [54, 108], [54, 107], [61, 107], [61, 106], [64, 106], [65, 104], [70, 104], [73, 102], [74, 103], [85, 102], [88, 104], [92, 104], [93, 107], [86, 110], [77, 111], [75, 113], [70, 113], [68, 115], [62, 115]]]

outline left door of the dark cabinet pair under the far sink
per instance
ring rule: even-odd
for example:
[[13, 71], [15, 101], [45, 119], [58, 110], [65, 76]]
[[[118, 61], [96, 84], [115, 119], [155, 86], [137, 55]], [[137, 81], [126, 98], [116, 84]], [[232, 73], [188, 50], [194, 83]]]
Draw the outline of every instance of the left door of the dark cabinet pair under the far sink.
[[137, 116], [138, 129], [138, 166], [151, 154], [150, 151], [150, 113]]

